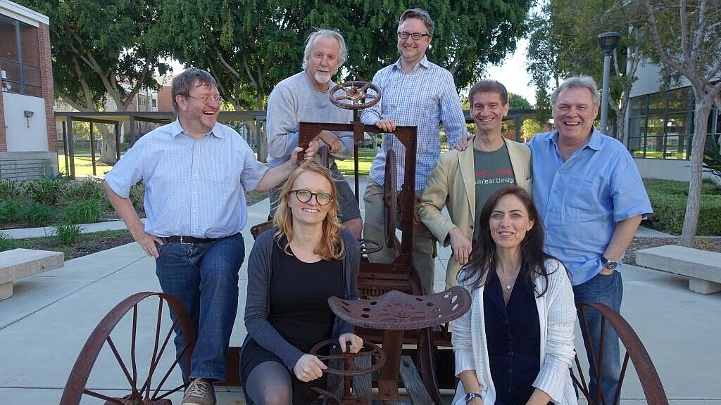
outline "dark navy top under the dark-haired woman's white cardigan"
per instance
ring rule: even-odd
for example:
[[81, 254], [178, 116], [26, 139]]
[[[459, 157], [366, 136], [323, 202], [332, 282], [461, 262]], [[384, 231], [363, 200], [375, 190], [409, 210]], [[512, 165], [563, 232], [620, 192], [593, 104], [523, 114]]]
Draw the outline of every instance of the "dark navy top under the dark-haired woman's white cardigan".
[[488, 362], [496, 404], [526, 404], [541, 370], [541, 324], [533, 290], [521, 280], [510, 293], [508, 306], [495, 272], [483, 290]]

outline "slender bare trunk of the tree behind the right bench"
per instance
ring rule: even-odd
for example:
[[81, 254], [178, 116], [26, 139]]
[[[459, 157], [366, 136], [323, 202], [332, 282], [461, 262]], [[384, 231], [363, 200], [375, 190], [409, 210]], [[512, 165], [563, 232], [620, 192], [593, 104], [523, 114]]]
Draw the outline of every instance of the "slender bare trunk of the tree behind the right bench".
[[694, 88], [694, 137], [691, 146], [691, 182], [689, 183], [689, 201], [686, 203], [684, 228], [681, 230], [681, 246], [694, 246], [694, 237], [699, 227], [699, 211], [701, 210], [701, 179], [706, 148], [706, 125], [713, 106], [713, 99], [704, 94], [703, 89]]

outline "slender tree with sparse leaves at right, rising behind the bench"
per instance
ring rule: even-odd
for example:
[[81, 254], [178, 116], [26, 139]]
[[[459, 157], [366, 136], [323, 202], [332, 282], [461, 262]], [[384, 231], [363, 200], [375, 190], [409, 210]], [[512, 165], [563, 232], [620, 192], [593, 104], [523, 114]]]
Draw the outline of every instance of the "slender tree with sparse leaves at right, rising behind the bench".
[[666, 81], [683, 76], [694, 92], [691, 182], [681, 244], [693, 246], [698, 228], [707, 124], [714, 104], [721, 107], [721, 4], [708, 0], [642, 0], [635, 14], [643, 49], [662, 66]]

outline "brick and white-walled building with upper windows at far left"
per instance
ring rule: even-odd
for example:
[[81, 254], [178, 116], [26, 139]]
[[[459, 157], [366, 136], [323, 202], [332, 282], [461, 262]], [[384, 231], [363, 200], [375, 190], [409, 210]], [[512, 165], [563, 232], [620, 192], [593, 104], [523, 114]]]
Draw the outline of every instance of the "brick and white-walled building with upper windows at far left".
[[0, 178], [58, 172], [49, 20], [0, 0]]

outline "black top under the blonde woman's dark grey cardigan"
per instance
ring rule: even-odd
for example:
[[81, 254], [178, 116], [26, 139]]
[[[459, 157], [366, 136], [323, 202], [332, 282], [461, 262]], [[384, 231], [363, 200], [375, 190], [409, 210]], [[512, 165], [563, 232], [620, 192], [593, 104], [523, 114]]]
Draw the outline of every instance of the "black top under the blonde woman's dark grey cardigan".
[[288, 343], [307, 353], [330, 339], [335, 313], [328, 298], [342, 295], [340, 260], [305, 263], [274, 244], [268, 321]]

